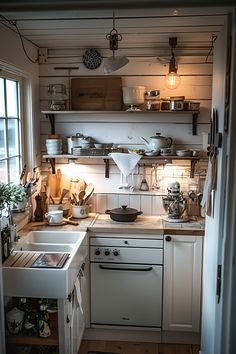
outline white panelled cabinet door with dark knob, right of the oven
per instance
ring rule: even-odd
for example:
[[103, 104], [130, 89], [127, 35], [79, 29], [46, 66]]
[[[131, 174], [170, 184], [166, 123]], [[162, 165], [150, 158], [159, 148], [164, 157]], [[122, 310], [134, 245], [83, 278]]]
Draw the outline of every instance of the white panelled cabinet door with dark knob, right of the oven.
[[200, 331], [202, 237], [164, 238], [163, 329]]

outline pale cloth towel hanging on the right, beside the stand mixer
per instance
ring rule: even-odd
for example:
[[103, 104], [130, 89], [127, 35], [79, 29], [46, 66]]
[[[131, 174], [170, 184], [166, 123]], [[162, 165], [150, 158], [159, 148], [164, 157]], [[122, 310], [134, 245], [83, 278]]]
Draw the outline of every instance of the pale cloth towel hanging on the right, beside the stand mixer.
[[203, 190], [201, 207], [206, 208], [206, 215], [213, 216], [213, 195], [216, 187], [217, 158], [215, 154], [210, 155], [207, 167], [207, 175]]

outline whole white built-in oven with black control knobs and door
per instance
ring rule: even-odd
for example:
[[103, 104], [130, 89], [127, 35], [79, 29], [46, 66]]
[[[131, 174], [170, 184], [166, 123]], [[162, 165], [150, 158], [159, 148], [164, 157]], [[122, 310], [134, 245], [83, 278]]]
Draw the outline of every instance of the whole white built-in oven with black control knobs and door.
[[162, 325], [163, 235], [90, 237], [91, 326]]

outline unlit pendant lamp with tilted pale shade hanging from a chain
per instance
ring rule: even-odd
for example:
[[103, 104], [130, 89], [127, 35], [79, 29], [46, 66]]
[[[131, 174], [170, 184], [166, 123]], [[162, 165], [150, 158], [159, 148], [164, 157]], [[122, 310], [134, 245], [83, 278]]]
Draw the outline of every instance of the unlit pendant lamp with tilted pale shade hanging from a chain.
[[115, 13], [113, 11], [113, 28], [110, 33], [106, 35], [106, 39], [109, 40], [110, 50], [112, 50], [113, 55], [109, 58], [104, 59], [103, 72], [104, 74], [110, 74], [126, 64], [128, 64], [129, 59], [125, 56], [115, 56], [115, 51], [118, 49], [118, 42], [122, 40], [122, 35], [118, 33], [115, 28]]

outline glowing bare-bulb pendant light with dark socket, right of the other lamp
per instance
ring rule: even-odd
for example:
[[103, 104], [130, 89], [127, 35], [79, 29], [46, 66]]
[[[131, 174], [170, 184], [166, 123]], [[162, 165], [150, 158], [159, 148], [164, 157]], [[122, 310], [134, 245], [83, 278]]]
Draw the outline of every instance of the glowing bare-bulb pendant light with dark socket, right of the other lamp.
[[171, 58], [169, 62], [169, 73], [165, 77], [165, 86], [168, 89], [173, 90], [179, 86], [181, 81], [180, 76], [177, 74], [175, 54], [174, 54], [174, 48], [177, 45], [177, 38], [176, 37], [169, 38], [169, 45], [171, 47]]

